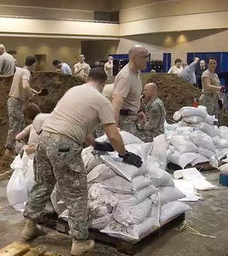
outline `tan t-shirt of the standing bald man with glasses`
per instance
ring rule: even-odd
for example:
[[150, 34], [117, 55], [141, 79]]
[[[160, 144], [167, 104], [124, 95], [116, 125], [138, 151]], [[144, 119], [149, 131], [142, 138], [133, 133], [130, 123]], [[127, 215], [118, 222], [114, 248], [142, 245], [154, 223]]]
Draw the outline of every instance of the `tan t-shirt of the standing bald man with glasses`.
[[142, 94], [142, 80], [140, 72], [134, 74], [129, 70], [128, 64], [123, 67], [114, 81], [113, 95], [120, 94], [123, 98], [121, 109], [130, 109], [132, 114], [137, 114], [140, 107]]

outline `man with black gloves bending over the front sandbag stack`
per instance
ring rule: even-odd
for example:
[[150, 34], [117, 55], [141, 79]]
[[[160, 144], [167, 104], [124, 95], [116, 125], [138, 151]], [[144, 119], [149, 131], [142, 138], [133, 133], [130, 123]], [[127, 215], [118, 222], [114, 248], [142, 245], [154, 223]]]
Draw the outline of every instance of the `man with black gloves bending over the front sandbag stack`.
[[[91, 144], [97, 151], [115, 149], [123, 162], [137, 167], [142, 165], [139, 156], [126, 152], [111, 102], [101, 94], [106, 80], [104, 70], [92, 69], [88, 83], [69, 89], [44, 122], [36, 151], [35, 185], [24, 212], [28, 218], [22, 232], [24, 239], [32, 239], [38, 234], [36, 224], [57, 181], [69, 210], [68, 223], [73, 238], [71, 255], [94, 249], [94, 241], [86, 240], [89, 234], [88, 195], [87, 173], [81, 158], [83, 142]], [[90, 135], [99, 123], [112, 146], [108, 142], [96, 142]]]

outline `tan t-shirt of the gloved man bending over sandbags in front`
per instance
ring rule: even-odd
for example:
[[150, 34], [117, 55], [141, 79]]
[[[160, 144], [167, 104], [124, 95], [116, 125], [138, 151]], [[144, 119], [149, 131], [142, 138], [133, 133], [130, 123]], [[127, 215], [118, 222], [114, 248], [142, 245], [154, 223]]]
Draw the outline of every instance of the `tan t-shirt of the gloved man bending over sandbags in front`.
[[97, 125], [115, 123], [111, 102], [92, 85], [75, 86], [57, 103], [43, 130], [60, 133], [82, 144]]

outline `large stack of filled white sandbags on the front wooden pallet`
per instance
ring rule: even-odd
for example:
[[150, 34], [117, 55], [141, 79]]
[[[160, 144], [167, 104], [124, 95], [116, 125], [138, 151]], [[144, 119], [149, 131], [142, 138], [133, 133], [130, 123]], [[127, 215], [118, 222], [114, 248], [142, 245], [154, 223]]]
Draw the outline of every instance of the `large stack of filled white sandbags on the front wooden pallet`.
[[[165, 135], [154, 142], [121, 131], [128, 151], [140, 155], [142, 167], [123, 163], [116, 152], [94, 152], [83, 149], [83, 162], [88, 171], [89, 228], [113, 237], [138, 241], [140, 237], [169, 220], [190, 210], [180, 202], [185, 195], [174, 187], [166, 167]], [[104, 135], [97, 141], [108, 141]], [[57, 186], [51, 196], [59, 218], [67, 220], [68, 210]]]

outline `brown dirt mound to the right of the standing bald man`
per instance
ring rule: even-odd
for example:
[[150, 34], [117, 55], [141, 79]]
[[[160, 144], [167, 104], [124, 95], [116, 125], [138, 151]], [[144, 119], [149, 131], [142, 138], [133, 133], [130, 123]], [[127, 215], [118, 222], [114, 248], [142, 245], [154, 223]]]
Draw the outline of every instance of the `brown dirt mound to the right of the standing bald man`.
[[193, 99], [199, 99], [200, 89], [182, 80], [177, 75], [168, 73], [151, 73], [145, 83], [155, 83], [158, 86], [158, 97], [164, 102], [166, 120], [172, 120], [175, 111], [184, 106], [192, 106]]

